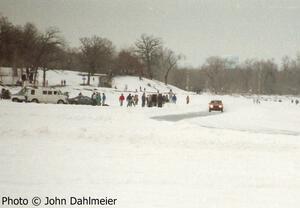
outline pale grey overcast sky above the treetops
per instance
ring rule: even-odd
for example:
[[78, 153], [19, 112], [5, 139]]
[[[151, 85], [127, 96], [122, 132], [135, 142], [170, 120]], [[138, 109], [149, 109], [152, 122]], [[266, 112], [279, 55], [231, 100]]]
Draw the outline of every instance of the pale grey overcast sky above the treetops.
[[57, 26], [70, 46], [99, 35], [118, 49], [142, 34], [199, 66], [212, 55], [295, 57], [300, 51], [299, 0], [0, 0], [0, 13], [15, 24]]

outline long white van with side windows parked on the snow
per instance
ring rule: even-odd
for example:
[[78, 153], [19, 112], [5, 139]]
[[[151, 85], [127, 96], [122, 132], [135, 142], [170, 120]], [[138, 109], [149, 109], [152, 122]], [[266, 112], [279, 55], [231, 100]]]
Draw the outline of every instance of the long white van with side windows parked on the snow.
[[35, 103], [67, 103], [67, 95], [55, 88], [24, 87], [20, 92], [11, 96], [13, 102]]

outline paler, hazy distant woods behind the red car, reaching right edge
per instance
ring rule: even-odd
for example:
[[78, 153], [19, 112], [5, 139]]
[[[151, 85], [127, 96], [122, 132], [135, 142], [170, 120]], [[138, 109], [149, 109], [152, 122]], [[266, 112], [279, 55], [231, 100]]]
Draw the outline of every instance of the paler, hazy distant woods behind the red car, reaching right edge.
[[[193, 91], [216, 94], [293, 94], [300, 92], [300, 54], [274, 60], [249, 59], [237, 65], [209, 57], [198, 69], [176, 69], [172, 83]], [[178, 79], [181, 77], [181, 79]]]

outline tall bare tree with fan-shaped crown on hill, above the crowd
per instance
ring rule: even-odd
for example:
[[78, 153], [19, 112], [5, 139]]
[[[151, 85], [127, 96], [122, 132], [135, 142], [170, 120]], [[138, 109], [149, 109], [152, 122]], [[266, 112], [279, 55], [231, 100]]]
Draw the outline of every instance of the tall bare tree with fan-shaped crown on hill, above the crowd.
[[152, 66], [155, 63], [155, 59], [158, 57], [157, 54], [159, 49], [162, 47], [162, 41], [160, 38], [142, 34], [141, 38], [135, 42], [137, 53], [143, 60], [149, 78], [153, 78]]

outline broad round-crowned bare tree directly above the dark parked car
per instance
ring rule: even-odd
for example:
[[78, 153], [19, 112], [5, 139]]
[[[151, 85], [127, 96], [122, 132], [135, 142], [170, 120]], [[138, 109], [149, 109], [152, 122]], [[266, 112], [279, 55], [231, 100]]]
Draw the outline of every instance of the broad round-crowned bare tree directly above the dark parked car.
[[110, 40], [98, 36], [81, 38], [80, 42], [81, 60], [88, 72], [87, 84], [89, 85], [92, 74], [107, 73], [111, 70], [115, 49]]

